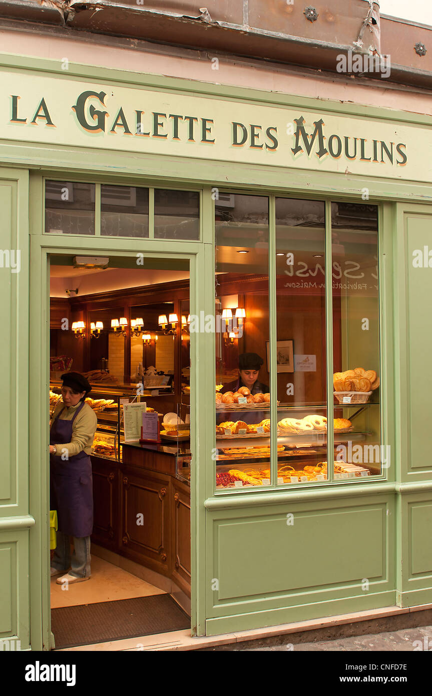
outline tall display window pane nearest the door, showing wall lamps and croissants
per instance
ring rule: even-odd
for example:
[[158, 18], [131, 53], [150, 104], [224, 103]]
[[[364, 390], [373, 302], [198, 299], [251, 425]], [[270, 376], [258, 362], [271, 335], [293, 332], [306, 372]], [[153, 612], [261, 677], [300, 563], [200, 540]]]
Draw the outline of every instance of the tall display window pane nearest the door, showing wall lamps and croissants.
[[216, 225], [216, 489], [271, 483], [269, 199], [223, 193]]

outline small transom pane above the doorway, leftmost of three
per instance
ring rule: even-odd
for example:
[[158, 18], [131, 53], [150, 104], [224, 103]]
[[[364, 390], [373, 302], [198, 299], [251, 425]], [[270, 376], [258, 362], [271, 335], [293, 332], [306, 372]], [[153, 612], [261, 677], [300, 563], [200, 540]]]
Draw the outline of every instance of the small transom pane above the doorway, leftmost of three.
[[45, 232], [95, 234], [95, 184], [45, 182]]

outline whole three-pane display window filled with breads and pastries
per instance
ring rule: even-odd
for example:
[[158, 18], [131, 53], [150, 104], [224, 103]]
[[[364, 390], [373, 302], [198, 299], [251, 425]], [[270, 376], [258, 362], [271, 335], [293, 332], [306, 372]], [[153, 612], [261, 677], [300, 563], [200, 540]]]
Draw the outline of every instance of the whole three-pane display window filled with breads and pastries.
[[377, 221], [374, 205], [215, 200], [216, 491], [353, 482], [389, 466]]

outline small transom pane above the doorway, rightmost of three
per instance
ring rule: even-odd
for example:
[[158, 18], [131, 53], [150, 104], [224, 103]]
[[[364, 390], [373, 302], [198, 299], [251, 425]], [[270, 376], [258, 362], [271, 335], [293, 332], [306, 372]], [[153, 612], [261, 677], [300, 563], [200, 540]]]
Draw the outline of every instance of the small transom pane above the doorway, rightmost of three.
[[200, 239], [200, 194], [154, 189], [154, 237]]

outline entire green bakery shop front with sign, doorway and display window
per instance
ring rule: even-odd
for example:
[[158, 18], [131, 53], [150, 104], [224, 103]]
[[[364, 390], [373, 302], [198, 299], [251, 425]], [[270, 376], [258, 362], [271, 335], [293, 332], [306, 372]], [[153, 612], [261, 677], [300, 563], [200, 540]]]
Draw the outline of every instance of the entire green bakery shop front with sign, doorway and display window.
[[95, 555], [191, 635], [431, 605], [431, 118], [16, 57], [1, 77], [1, 638], [54, 644], [68, 369], [97, 414]]

